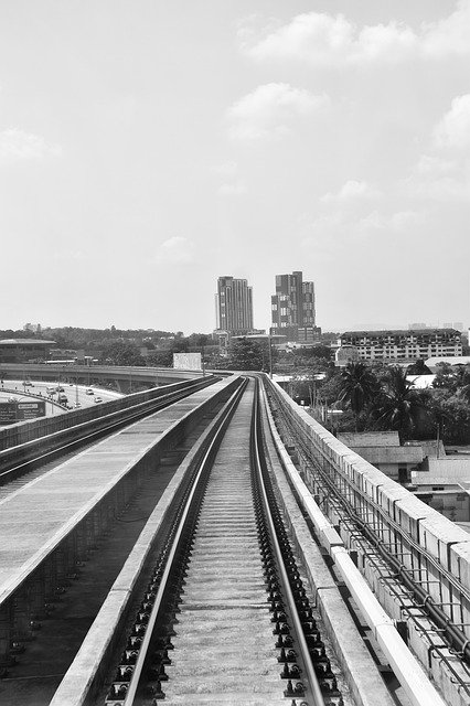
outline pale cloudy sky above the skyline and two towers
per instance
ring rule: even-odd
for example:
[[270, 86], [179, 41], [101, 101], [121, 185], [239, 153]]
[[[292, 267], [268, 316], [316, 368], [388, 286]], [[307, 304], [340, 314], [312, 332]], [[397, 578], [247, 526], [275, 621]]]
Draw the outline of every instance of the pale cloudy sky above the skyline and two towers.
[[0, 329], [470, 321], [470, 0], [3, 0], [0, 108]]

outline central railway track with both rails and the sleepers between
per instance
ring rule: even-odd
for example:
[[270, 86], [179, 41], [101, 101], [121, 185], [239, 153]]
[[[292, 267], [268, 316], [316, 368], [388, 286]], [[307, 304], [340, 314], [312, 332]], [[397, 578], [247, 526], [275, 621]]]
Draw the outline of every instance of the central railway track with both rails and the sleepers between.
[[257, 385], [194, 471], [102, 704], [342, 704], [269, 486]]

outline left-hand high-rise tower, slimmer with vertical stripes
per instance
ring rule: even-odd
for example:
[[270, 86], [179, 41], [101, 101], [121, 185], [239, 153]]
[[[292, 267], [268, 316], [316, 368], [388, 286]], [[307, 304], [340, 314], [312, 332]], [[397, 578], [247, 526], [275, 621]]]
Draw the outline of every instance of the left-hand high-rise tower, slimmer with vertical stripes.
[[243, 335], [253, 330], [253, 289], [246, 279], [218, 278], [215, 313], [220, 331]]

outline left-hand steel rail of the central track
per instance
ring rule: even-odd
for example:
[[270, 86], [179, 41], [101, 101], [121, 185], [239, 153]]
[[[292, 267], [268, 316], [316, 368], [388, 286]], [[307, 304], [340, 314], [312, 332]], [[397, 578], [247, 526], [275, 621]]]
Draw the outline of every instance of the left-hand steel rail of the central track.
[[189, 493], [189, 496], [186, 499], [186, 503], [185, 503], [185, 507], [180, 516], [179, 520], [179, 524], [178, 524], [178, 530], [174, 534], [174, 538], [173, 538], [173, 543], [171, 546], [171, 549], [169, 552], [167, 561], [165, 561], [165, 566], [164, 566], [164, 570], [163, 570], [163, 575], [161, 577], [160, 580], [160, 585], [157, 591], [157, 596], [152, 606], [152, 610], [150, 612], [149, 616], [149, 621], [147, 623], [147, 629], [146, 629], [146, 633], [143, 635], [141, 645], [140, 645], [140, 650], [139, 650], [139, 655], [137, 657], [135, 667], [132, 670], [132, 676], [130, 678], [129, 682], [129, 687], [127, 689], [126, 693], [126, 697], [124, 700], [124, 706], [132, 706], [135, 698], [136, 698], [136, 694], [137, 694], [137, 689], [140, 683], [140, 677], [142, 674], [142, 670], [143, 670], [143, 665], [147, 659], [147, 654], [148, 654], [148, 650], [151, 643], [151, 639], [152, 639], [152, 633], [153, 633], [153, 628], [156, 625], [159, 612], [160, 612], [160, 608], [163, 601], [163, 596], [167, 591], [167, 585], [169, 581], [169, 577], [170, 577], [170, 573], [172, 569], [172, 565], [174, 563], [174, 558], [177, 556], [178, 553], [178, 548], [179, 548], [179, 544], [180, 544], [180, 539], [181, 536], [183, 534], [184, 531], [184, 525], [185, 525], [185, 521], [189, 516], [190, 510], [191, 510], [191, 504], [192, 501], [194, 499], [194, 495], [196, 493], [196, 489], [197, 485], [201, 481], [202, 475], [207, 471], [210, 463], [212, 463], [213, 457], [216, 453], [222, 438], [225, 434], [226, 427], [233, 416], [233, 414], [235, 413], [235, 409], [238, 405], [238, 402], [243, 395], [243, 393], [245, 392], [246, 385], [247, 385], [248, 381], [245, 379], [244, 383], [238, 387], [238, 389], [232, 395], [227, 407], [225, 408], [224, 413], [223, 413], [223, 417], [220, 420], [218, 426], [214, 429], [213, 436], [210, 440], [209, 447], [206, 449], [206, 451], [204, 452], [202, 459], [199, 462], [199, 468], [196, 471], [196, 475], [193, 480], [193, 484], [191, 488], [191, 491]]

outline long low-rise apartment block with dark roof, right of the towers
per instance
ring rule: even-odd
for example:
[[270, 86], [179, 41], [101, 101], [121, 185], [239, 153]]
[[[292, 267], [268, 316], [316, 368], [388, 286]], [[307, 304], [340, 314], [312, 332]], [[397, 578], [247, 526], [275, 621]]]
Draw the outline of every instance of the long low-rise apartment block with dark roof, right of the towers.
[[345, 331], [338, 343], [355, 347], [362, 361], [399, 363], [462, 354], [460, 332], [456, 329]]

